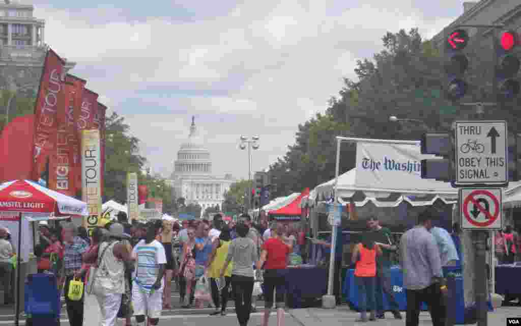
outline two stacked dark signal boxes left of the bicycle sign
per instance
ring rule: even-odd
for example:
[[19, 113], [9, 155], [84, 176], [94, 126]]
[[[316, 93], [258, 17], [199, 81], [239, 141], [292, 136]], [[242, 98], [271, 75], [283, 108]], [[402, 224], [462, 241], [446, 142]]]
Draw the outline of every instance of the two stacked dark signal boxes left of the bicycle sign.
[[433, 154], [442, 159], [421, 160], [421, 178], [449, 182], [452, 177], [452, 139], [450, 134], [424, 134], [421, 136], [421, 154]]

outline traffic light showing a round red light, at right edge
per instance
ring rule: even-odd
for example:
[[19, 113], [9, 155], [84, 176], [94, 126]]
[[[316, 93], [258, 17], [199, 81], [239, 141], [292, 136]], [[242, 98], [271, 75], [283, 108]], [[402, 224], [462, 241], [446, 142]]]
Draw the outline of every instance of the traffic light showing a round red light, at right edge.
[[514, 31], [500, 32], [495, 40], [495, 88], [498, 101], [511, 100], [519, 94], [519, 58], [514, 53], [519, 45], [519, 35]]

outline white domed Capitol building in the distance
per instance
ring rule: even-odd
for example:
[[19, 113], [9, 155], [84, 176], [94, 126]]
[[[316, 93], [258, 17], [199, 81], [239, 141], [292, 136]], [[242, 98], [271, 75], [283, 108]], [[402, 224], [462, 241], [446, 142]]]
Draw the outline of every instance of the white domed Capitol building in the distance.
[[190, 135], [177, 152], [173, 173], [168, 180], [176, 196], [183, 197], [186, 204], [200, 204], [202, 212], [216, 205], [222, 208], [225, 191], [228, 191], [235, 181], [231, 174], [224, 177], [212, 175], [210, 152], [204, 144], [204, 139], [197, 132], [195, 117], [192, 117]]

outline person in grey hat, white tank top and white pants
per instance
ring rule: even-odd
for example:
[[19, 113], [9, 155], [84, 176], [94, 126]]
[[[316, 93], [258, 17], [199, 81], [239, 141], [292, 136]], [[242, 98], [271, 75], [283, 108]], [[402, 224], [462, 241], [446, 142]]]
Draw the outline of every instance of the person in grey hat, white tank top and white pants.
[[123, 294], [130, 291], [125, 277], [125, 262], [132, 261], [132, 256], [123, 231], [122, 224], [111, 224], [108, 230], [109, 240], [98, 248], [100, 265], [93, 289], [102, 312], [101, 324], [105, 326], [116, 325], [120, 307], [128, 306], [128, 302], [122, 302], [122, 298]]

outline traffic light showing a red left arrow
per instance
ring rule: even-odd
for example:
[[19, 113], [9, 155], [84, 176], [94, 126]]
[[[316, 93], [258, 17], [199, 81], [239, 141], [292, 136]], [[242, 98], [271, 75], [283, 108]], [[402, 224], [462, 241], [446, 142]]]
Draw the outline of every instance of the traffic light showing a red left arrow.
[[452, 101], [465, 96], [468, 84], [463, 76], [468, 68], [468, 58], [463, 53], [467, 46], [468, 34], [464, 29], [453, 30], [445, 40], [445, 74], [447, 96]]

